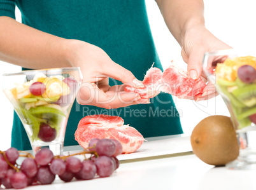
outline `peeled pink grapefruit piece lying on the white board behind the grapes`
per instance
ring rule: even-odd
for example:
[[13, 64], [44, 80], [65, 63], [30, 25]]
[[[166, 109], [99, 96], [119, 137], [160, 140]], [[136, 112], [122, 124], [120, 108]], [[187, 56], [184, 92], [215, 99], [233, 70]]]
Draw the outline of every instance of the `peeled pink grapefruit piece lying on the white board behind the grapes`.
[[133, 153], [145, 140], [141, 133], [118, 116], [92, 115], [85, 116], [78, 123], [75, 132], [76, 141], [87, 148], [91, 139], [117, 139], [123, 147], [123, 153]]

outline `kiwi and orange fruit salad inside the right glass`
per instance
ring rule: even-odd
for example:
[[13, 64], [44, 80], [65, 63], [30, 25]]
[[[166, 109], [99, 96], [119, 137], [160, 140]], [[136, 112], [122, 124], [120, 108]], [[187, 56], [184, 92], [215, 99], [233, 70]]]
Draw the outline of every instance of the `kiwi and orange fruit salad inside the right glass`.
[[239, 129], [256, 125], [256, 57], [227, 58], [217, 64], [217, 87], [238, 120]]

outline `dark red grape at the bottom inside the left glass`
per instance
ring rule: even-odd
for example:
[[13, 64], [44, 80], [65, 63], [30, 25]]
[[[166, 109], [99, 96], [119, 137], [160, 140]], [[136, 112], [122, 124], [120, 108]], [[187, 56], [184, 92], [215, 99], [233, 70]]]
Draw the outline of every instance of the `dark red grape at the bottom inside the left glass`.
[[54, 140], [57, 136], [57, 132], [55, 128], [52, 128], [51, 126], [41, 123], [38, 133], [38, 138], [43, 140], [44, 142], [51, 142]]

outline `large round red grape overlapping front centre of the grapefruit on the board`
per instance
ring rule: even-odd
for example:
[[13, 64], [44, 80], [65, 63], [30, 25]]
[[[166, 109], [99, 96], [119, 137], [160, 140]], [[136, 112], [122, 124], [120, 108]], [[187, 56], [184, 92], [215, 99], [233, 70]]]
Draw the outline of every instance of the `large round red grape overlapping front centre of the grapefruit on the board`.
[[101, 139], [96, 144], [96, 152], [99, 156], [112, 156], [115, 150], [115, 143], [110, 139]]

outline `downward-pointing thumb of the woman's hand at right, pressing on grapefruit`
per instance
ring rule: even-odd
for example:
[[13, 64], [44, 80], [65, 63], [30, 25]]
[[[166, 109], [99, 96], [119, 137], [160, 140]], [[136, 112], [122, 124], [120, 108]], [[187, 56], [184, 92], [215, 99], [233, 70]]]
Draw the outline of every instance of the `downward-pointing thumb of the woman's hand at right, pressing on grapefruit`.
[[203, 51], [192, 52], [188, 57], [188, 76], [192, 79], [197, 79], [202, 74]]

